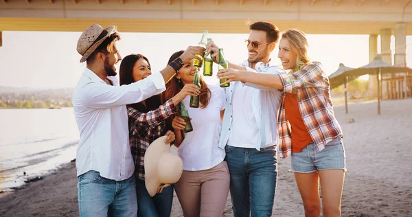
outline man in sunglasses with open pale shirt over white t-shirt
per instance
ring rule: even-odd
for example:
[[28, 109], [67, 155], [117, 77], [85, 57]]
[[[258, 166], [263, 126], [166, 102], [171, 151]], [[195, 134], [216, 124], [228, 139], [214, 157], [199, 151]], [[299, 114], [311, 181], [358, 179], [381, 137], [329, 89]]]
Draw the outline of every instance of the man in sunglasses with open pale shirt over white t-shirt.
[[[229, 68], [256, 73], [284, 73], [271, 62], [271, 52], [279, 41], [272, 23], [250, 25], [246, 40], [249, 58]], [[218, 47], [207, 44], [217, 62]], [[218, 146], [225, 148], [230, 173], [233, 215], [271, 216], [277, 181], [277, 110], [281, 93], [256, 84], [232, 82], [225, 88], [227, 104]]]

